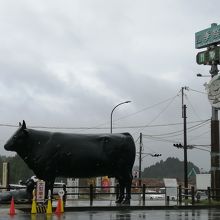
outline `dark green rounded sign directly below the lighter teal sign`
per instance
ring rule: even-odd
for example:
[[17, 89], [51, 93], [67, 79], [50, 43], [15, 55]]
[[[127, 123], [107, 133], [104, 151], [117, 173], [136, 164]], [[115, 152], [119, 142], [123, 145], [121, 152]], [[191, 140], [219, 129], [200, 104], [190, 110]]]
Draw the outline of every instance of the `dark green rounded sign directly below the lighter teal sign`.
[[199, 52], [196, 56], [198, 64], [212, 65], [220, 63], [220, 47], [215, 46], [212, 49]]

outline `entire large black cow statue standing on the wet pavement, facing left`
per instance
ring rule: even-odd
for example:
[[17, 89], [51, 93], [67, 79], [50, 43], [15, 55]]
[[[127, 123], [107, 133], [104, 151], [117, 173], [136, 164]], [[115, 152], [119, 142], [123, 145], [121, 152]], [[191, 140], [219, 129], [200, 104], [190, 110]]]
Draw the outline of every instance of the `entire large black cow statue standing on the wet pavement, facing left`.
[[[71, 134], [26, 128], [25, 121], [4, 148], [15, 151], [53, 189], [56, 177], [115, 177], [116, 203], [130, 204], [135, 144], [129, 133]], [[124, 191], [126, 189], [126, 196]]]

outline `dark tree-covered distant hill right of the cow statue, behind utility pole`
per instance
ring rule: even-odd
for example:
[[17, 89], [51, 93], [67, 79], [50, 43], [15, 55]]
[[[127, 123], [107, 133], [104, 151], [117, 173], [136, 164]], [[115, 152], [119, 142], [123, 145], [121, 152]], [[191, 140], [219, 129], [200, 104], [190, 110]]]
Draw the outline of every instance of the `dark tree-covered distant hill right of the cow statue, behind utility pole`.
[[[199, 168], [193, 163], [188, 162], [188, 173], [194, 168], [196, 173], [199, 173]], [[147, 167], [142, 172], [144, 178], [177, 178], [184, 179], [184, 162], [178, 158], [167, 158], [166, 161], [160, 162]]]

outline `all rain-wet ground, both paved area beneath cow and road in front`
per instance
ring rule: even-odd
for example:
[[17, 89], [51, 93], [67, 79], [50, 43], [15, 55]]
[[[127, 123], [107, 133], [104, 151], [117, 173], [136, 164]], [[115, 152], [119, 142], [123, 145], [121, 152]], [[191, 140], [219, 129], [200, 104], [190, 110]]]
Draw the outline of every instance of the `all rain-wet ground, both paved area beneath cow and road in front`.
[[[66, 212], [61, 215], [55, 213], [30, 214], [31, 204], [15, 204], [16, 215], [10, 216], [9, 204], [0, 205], [0, 220], [217, 220], [220, 219], [220, 209], [195, 207], [191, 204], [178, 206], [177, 201], [146, 200], [145, 205], [141, 200], [132, 200], [131, 206], [116, 206], [115, 201], [94, 200], [90, 206], [88, 200], [69, 200], [66, 202]], [[57, 202], [53, 202], [53, 211]], [[22, 209], [23, 207], [23, 209]], [[23, 211], [21, 211], [23, 210]], [[26, 210], [26, 211], [25, 211]]]

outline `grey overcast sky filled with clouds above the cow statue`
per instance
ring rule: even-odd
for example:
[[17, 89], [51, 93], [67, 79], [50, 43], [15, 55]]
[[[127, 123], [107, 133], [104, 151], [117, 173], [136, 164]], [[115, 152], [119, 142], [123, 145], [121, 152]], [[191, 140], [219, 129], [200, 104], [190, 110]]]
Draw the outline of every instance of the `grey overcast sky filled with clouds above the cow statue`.
[[[211, 106], [196, 64], [195, 32], [218, 23], [219, 0], [0, 0], [0, 154], [23, 119], [51, 131], [130, 132], [143, 167], [183, 160], [181, 87], [188, 144], [210, 144]], [[175, 125], [177, 124], [177, 125]], [[145, 126], [145, 127], [143, 127]], [[98, 129], [91, 129], [91, 128]], [[167, 134], [168, 133], [168, 134]], [[188, 160], [210, 169], [210, 148]], [[205, 150], [205, 151], [204, 151]], [[137, 162], [136, 162], [137, 164]]]

